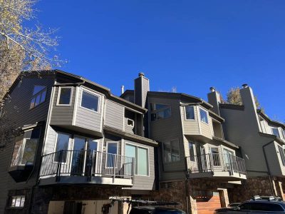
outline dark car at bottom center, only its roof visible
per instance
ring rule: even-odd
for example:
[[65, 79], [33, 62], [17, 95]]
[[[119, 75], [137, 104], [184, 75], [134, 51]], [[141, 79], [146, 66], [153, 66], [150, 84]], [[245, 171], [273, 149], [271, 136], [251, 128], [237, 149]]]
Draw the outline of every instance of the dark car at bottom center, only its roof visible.
[[182, 210], [166, 207], [141, 206], [133, 207], [130, 214], [186, 214]]

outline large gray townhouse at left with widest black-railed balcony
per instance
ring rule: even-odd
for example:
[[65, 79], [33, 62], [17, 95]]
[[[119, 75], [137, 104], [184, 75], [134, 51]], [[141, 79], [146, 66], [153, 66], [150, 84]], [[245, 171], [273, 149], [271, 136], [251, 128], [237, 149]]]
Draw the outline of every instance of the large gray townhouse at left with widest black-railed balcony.
[[122, 213], [110, 196], [149, 194], [158, 143], [145, 138], [143, 97], [58, 70], [21, 73], [3, 111], [19, 132], [1, 142], [0, 213]]

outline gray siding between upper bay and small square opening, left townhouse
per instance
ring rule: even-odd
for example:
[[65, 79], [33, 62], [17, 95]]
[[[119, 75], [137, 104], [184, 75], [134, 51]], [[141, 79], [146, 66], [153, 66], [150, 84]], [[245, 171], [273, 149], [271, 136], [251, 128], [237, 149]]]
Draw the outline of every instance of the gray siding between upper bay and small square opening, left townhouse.
[[106, 100], [105, 125], [119, 130], [124, 129], [125, 108], [118, 103]]

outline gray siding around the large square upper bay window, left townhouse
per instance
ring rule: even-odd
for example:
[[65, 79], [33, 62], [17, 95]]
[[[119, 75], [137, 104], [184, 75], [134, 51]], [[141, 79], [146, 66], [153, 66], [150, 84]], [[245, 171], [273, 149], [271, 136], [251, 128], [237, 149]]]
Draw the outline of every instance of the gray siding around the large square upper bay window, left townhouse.
[[77, 106], [76, 106], [76, 114], [75, 114], [75, 126], [79, 126], [82, 128], [87, 128], [92, 131], [98, 131], [101, 132], [101, 127], [102, 127], [102, 114], [103, 114], [103, 103], [104, 103], [104, 98], [102, 95], [96, 93], [99, 98], [99, 113], [90, 111], [86, 108], [81, 107], [81, 93], [82, 93], [82, 88], [78, 88], [78, 101], [77, 101]]

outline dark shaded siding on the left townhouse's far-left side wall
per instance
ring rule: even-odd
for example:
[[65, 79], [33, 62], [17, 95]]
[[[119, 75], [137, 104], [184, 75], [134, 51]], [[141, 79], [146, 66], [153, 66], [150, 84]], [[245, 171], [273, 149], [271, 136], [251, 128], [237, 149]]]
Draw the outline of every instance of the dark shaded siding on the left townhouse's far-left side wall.
[[[5, 108], [11, 112], [10, 123], [14, 127], [21, 127], [27, 124], [33, 124], [38, 121], [46, 121], [48, 115], [48, 106], [51, 97], [51, 88], [53, 86], [53, 77], [52, 76], [41, 76], [41, 78], [32, 78], [24, 77], [21, 83], [18, 83], [14, 90], [11, 91], [11, 101], [7, 102]], [[30, 108], [31, 97], [33, 94], [33, 86], [47, 86], [46, 101], [36, 106], [35, 108]], [[42, 127], [42, 134], [44, 133], [45, 128]], [[36, 184], [37, 173], [40, 163], [41, 156], [41, 146], [42, 140], [38, 145], [38, 156], [36, 158], [36, 170], [34, 170], [31, 178], [27, 183], [16, 183], [13, 178], [7, 172], [10, 161], [11, 154], [14, 149], [14, 141], [10, 141], [6, 144], [4, 148], [0, 150], [0, 213], [4, 213], [4, 207], [6, 205], [7, 193], [11, 189], [24, 189], [31, 188]], [[28, 201], [28, 200], [27, 200]]]

